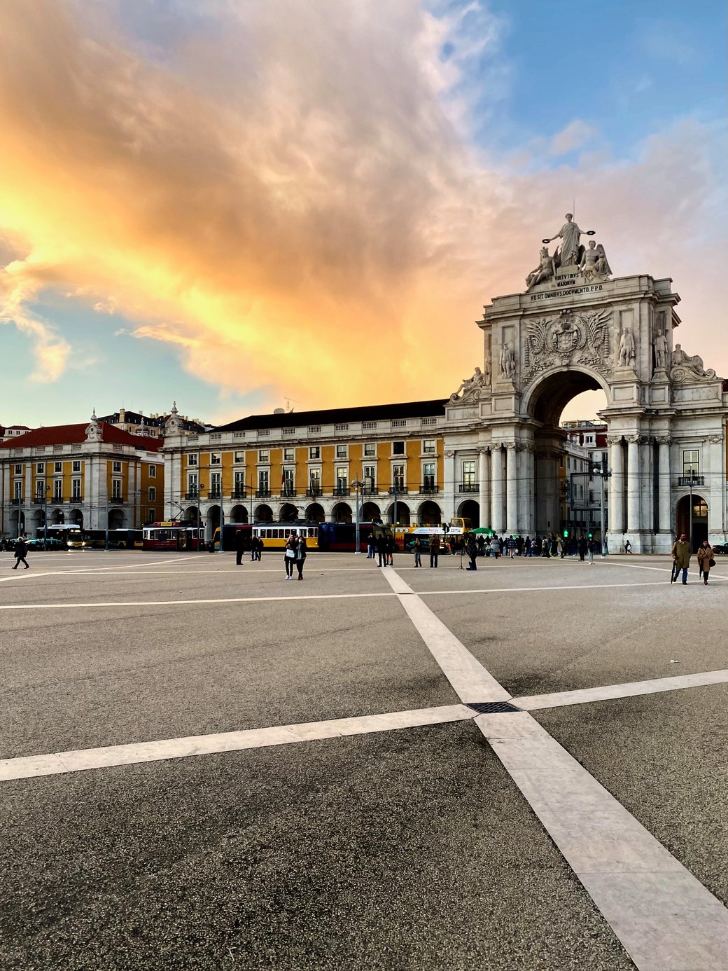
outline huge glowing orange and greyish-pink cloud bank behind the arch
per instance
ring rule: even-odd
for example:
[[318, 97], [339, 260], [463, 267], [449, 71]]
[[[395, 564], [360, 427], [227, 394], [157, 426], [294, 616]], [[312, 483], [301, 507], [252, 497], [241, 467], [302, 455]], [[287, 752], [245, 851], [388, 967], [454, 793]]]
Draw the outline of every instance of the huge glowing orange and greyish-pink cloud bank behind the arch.
[[481, 305], [522, 288], [576, 196], [615, 272], [694, 287], [684, 343], [728, 371], [700, 303], [719, 261], [709, 128], [682, 122], [629, 164], [483, 160], [447, 101], [453, 24], [415, 0], [204, 6], [205, 29], [181, 8], [164, 49], [112, 6], [4, 7], [0, 210], [34, 292], [78, 294], [99, 326], [113, 308], [272, 404], [445, 395], [478, 360]]

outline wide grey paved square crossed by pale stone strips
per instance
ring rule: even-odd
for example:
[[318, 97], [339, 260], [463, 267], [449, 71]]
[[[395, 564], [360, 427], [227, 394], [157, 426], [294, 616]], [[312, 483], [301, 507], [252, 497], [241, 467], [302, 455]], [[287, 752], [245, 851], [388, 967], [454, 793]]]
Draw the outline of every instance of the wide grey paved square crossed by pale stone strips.
[[728, 969], [722, 563], [30, 562], [4, 967]]

